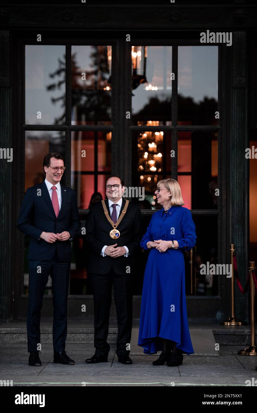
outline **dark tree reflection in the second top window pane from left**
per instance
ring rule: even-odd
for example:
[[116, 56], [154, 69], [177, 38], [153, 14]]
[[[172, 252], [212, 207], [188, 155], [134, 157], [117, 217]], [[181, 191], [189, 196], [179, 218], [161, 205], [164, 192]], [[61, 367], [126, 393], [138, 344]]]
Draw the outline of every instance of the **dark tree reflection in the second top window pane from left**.
[[[111, 121], [111, 75], [108, 68], [106, 46], [92, 46], [90, 55], [92, 70], [85, 71], [78, 65], [76, 54], [71, 56], [72, 107], [76, 107], [77, 121], [97, 123]], [[85, 72], [86, 80], [81, 80]]]

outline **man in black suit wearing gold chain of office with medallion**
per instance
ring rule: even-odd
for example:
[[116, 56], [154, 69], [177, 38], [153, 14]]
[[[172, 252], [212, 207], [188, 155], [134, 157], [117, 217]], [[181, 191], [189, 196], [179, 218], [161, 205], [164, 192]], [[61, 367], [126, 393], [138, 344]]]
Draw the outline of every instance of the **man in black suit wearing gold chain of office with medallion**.
[[124, 191], [123, 180], [117, 175], [110, 176], [106, 182], [106, 207], [102, 202], [91, 205], [87, 217], [86, 239], [91, 249], [88, 271], [94, 296], [96, 350], [94, 356], [87, 358], [86, 363], [108, 361], [110, 346], [107, 337], [113, 285], [118, 321], [116, 354], [119, 362], [132, 364], [129, 357], [132, 331], [132, 276], [134, 254], [142, 238], [142, 229], [140, 207], [126, 201], [122, 197]]

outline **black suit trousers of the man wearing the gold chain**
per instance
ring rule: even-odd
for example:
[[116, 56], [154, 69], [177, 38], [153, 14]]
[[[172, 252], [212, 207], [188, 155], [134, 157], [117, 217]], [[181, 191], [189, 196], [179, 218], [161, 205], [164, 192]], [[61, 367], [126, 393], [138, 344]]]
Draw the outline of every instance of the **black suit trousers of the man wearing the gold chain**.
[[129, 355], [128, 344], [130, 344], [132, 331], [132, 274], [116, 274], [113, 267], [111, 267], [107, 274], [91, 273], [90, 279], [94, 296], [95, 354], [107, 356], [110, 351], [107, 337], [113, 285], [118, 322], [116, 354], [119, 357]]

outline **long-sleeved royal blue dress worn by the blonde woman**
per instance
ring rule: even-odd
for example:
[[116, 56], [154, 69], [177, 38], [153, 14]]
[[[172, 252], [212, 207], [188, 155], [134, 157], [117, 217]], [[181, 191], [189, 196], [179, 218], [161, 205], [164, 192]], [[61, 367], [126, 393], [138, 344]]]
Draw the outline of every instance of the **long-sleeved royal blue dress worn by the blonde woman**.
[[[177, 240], [179, 248], [159, 252], [151, 248], [144, 273], [138, 345], [145, 354], [163, 349], [162, 338], [173, 340], [183, 353], [192, 354], [186, 311], [185, 262], [183, 251], [196, 243], [196, 226], [191, 211], [172, 206], [167, 213], [156, 211], [141, 247], [154, 240]], [[169, 243], [170, 244], [170, 243]]]

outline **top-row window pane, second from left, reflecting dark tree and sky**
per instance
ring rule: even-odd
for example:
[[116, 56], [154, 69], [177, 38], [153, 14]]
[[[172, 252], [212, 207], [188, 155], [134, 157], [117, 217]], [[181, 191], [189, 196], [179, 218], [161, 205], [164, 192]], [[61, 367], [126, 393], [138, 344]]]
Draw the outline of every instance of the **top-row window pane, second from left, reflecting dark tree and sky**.
[[71, 46], [71, 124], [111, 124], [111, 46]]

